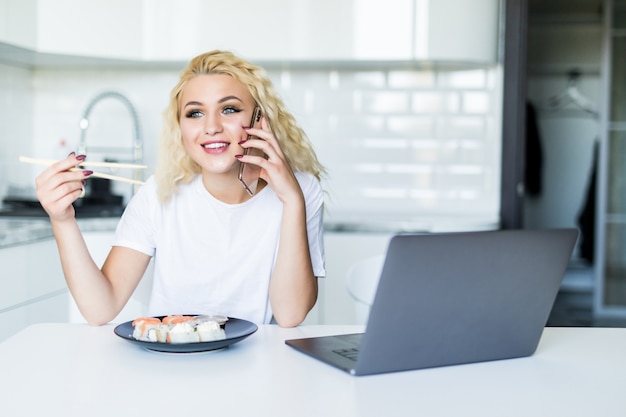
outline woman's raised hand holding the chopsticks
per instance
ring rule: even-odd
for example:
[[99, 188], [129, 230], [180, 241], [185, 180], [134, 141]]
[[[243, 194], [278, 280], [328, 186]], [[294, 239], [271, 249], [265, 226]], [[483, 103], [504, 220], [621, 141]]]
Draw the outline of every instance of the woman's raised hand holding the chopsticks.
[[88, 170], [71, 171], [84, 159], [85, 155], [72, 152], [67, 158], [50, 165], [35, 180], [37, 198], [50, 220], [74, 218], [72, 203], [82, 195], [85, 178], [93, 173]]

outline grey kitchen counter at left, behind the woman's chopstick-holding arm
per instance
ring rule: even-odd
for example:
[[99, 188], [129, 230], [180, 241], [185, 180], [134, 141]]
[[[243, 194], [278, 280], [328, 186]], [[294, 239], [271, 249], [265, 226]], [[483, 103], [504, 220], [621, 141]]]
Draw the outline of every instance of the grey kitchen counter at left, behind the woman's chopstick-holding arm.
[[[115, 230], [119, 217], [79, 218], [83, 232]], [[0, 216], [0, 249], [4, 247], [52, 239], [52, 226], [46, 217], [3, 217]]]

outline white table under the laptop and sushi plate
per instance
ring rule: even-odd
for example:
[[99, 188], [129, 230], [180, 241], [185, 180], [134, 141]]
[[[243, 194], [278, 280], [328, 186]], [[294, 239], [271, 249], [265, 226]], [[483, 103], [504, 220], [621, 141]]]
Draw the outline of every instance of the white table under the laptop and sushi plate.
[[359, 326], [260, 326], [202, 354], [113, 325], [38, 324], [0, 344], [2, 416], [625, 416], [626, 329], [547, 328], [528, 358], [352, 377], [284, 344]]

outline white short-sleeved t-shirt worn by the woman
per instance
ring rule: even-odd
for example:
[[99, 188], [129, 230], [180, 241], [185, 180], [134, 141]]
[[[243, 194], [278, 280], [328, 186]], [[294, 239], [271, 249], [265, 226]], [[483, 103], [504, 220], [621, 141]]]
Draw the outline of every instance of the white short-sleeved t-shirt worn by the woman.
[[[306, 203], [313, 273], [325, 276], [323, 191], [315, 176], [296, 173]], [[266, 186], [241, 204], [214, 198], [198, 175], [165, 205], [153, 177], [117, 226], [113, 246], [154, 256], [150, 315], [223, 314], [269, 323], [269, 282], [283, 204]], [[289, 244], [289, 242], [285, 242]]]

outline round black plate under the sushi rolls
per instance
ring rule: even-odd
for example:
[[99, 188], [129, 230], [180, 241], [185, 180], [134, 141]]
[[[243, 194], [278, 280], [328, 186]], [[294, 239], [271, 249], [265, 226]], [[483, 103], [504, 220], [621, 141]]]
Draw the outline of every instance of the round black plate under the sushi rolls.
[[[164, 316], [158, 317], [162, 319]], [[240, 342], [258, 329], [257, 325], [247, 320], [228, 318], [228, 321], [224, 324], [224, 331], [226, 332], [226, 339], [215, 340], [213, 342], [194, 342], [194, 343], [160, 343], [160, 342], [145, 342], [143, 340], [137, 340], [133, 337], [133, 322], [127, 321], [126, 323], [119, 324], [113, 330], [116, 335], [122, 339], [126, 339], [129, 342], [135, 343], [143, 348], [149, 350], [156, 350], [158, 352], [170, 352], [170, 353], [193, 353], [193, 352], [207, 352], [209, 350], [222, 349], [226, 346], [230, 346], [234, 343]]]

